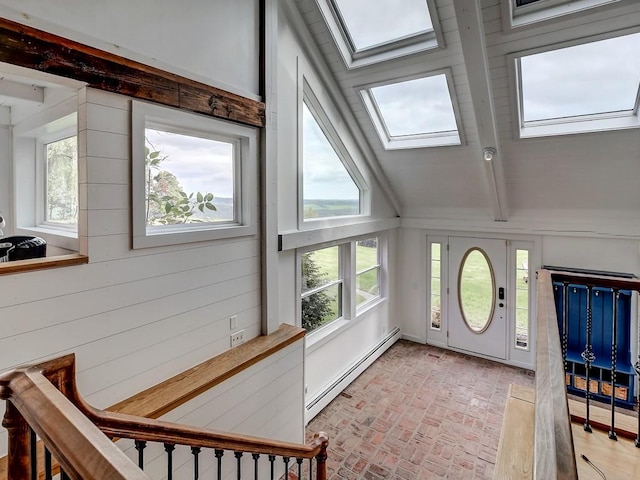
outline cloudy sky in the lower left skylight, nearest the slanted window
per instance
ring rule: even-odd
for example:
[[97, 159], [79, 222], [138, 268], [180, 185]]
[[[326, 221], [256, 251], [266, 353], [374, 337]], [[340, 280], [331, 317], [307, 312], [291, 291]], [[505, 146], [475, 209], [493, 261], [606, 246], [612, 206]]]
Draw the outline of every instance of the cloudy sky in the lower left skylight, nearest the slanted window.
[[457, 130], [444, 75], [371, 89], [392, 137]]

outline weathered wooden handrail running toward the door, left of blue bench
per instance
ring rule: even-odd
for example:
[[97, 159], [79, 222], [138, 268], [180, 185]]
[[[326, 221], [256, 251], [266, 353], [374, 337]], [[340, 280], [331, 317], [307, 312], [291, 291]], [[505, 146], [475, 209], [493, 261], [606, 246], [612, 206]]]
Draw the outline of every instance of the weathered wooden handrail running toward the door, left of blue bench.
[[578, 478], [551, 272], [538, 271], [534, 470], [536, 480]]

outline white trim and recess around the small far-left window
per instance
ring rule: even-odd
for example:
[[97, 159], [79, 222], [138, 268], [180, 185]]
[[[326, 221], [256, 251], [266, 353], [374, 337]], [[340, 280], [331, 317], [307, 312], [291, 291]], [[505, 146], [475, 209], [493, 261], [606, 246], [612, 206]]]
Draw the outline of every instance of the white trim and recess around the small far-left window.
[[[33, 141], [33, 157], [16, 158], [13, 152], [13, 162], [26, 162], [31, 166], [14, 165], [14, 182], [34, 182], [33, 198], [20, 198], [21, 189], [14, 185], [14, 218], [16, 219], [14, 229], [16, 235], [31, 235], [43, 238], [47, 246], [58, 247], [69, 251], [79, 251], [79, 224], [77, 226], [63, 226], [55, 223], [44, 222], [44, 204], [46, 189], [46, 158], [44, 155], [44, 144], [59, 140], [69, 136], [78, 135], [78, 98], [73, 96], [51, 108], [17, 124], [13, 128], [13, 138], [29, 139]], [[78, 142], [78, 162], [80, 162], [80, 142]], [[78, 166], [79, 168], [79, 166]], [[25, 172], [29, 178], [22, 178]], [[25, 192], [28, 194], [28, 192]], [[20, 195], [20, 194], [19, 194]], [[78, 188], [78, 205], [82, 209], [82, 198], [80, 188]]]

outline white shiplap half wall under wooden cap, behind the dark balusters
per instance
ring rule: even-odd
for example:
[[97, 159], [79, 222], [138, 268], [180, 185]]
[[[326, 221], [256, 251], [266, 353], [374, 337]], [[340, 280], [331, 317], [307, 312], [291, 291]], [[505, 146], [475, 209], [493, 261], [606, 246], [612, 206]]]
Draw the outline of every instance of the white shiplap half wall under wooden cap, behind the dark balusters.
[[[304, 341], [300, 340], [169, 412], [161, 420], [302, 443], [303, 356]], [[137, 463], [133, 442], [118, 443]], [[250, 455], [245, 455], [243, 460], [243, 472], [253, 472]], [[263, 456], [263, 462], [266, 460]], [[145, 472], [151, 478], [164, 478], [166, 461], [162, 445], [149, 444], [145, 449]], [[214, 461], [211, 450], [202, 451], [200, 478], [214, 478]], [[173, 462], [173, 478], [193, 479], [193, 460], [187, 447], [176, 447]], [[224, 478], [232, 478], [235, 462], [233, 452], [227, 451], [223, 469], [228, 476]], [[277, 476], [280, 476], [284, 473], [281, 458], [277, 458], [276, 465]], [[264, 472], [268, 467], [263, 464], [261, 468]]]

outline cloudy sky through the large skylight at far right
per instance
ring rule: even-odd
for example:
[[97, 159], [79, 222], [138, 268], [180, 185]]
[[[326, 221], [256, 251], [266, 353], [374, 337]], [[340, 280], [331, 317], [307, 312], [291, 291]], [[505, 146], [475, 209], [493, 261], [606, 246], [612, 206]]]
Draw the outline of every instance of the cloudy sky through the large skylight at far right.
[[631, 110], [640, 83], [640, 33], [520, 59], [524, 120]]

